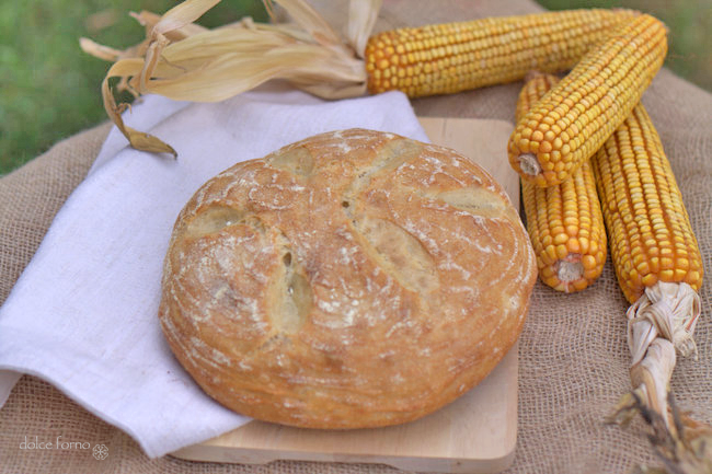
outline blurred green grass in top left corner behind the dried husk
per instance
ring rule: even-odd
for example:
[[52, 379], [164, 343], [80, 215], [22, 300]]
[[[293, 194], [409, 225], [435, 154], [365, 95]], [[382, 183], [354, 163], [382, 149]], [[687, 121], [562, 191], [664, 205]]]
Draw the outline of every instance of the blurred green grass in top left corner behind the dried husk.
[[[177, 0], [0, 1], [0, 175], [51, 144], [106, 119], [101, 81], [108, 62], [79, 48], [88, 36], [128, 47], [143, 27], [129, 11], [163, 13]], [[265, 21], [260, 0], [223, 1], [199, 23], [206, 26], [252, 15]]]

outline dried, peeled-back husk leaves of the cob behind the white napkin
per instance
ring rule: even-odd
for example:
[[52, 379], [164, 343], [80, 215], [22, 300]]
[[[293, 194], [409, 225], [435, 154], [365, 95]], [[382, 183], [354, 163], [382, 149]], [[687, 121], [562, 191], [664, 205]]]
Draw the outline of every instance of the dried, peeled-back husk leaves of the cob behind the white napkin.
[[[343, 39], [305, 0], [279, 0], [294, 24], [259, 24], [250, 19], [207, 30], [194, 22], [220, 0], [186, 0], [159, 16], [134, 14], [146, 26], [146, 39], [118, 50], [81, 38], [82, 49], [114, 65], [102, 82], [104, 107], [131, 147], [175, 150], [159, 138], [127, 127], [114, 90], [134, 95], [157, 93], [179, 101], [218, 102], [284, 79], [325, 99], [366, 91], [363, 55], [380, 10], [380, 0], [352, 1]], [[272, 2], [266, 1], [268, 11]], [[118, 78], [117, 86], [110, 80]]]

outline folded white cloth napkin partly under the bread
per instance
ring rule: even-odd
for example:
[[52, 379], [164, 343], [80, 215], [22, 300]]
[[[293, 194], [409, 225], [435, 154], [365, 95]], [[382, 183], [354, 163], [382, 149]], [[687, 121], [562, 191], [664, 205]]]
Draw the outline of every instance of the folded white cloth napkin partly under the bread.
[[427, 139], [400, 92], [324, 102], [263, 88], [217, 104], [147, 96], [126, 122], [179, 159], [133, 150], [110, 132], [0, 308], [0, 404], [21, 373], [39, 377], [156, 458], [249, 420], [203, 393], [158, 323], [163, 256], [193, 193], [237, 162], [323, 131]]

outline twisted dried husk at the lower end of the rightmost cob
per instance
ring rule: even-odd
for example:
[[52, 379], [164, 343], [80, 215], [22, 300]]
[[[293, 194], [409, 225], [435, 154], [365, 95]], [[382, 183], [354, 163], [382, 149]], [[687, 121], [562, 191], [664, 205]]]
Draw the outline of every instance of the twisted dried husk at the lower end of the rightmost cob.
[[627, 316], [634, 389], [608, 417], [608, 423], [627, 426], [641, 414], [653, 430], [648, 439], [655, 454], [675, 474], [712, 474], [712, 427], [680, 413], [670, 389], [676, 352], [697, 358], [692, 333], [700, 312], [700, 299], [687, 284], [658, 282], [631, 305]]

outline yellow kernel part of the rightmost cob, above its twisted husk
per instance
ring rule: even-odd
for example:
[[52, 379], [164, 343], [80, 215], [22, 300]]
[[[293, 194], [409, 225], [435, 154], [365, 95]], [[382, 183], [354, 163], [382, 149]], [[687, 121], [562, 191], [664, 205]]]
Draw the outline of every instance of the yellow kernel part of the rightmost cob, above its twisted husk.
[[[673, 169], [643, 105], [618, 127], [592, 164], [598, 194], [608, 204], [604, 217], [611, 259], [628, 301], [635, 302], [658, 280], [685, 281], [697, 291], [702, 285], [700, 250]], [[641, 212], [635, 211], [639, 208]]]

